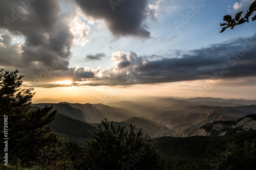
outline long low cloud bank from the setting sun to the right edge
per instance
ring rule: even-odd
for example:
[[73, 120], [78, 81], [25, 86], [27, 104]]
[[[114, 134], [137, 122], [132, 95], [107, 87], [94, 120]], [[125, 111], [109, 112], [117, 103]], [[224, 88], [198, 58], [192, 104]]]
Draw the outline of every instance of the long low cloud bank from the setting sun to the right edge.
[[[6, 40], [7, 41], [7, 40]], [[188, 52], [177, 51], [168, 57], [138, 56], [134, 52], [112, 53], [111, 67], [105, 70], [89, 67], [69, 67], [55, 70], [41, 67], [27, 81], [35, 87], [65, 86], [129, 86], [194, 80], [222, 80], [256, 76], [256, 34]], [[97, 54], [95, 55], [97, 56]], [[94, 56], [94, 57], [95, 57]], [[25, 75], [26, 76], [26, 75]], [[52, 83], [72, 80], [71, 85]], [[41, 82], [40, 82], [41, 81]]]

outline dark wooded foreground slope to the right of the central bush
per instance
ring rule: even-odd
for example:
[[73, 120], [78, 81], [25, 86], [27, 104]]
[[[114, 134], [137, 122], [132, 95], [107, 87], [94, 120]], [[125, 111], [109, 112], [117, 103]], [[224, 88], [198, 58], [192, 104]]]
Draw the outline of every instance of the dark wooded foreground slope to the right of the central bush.
[[161, 137], [164, 169], [255, 169], [256, 130], [225, 136]]

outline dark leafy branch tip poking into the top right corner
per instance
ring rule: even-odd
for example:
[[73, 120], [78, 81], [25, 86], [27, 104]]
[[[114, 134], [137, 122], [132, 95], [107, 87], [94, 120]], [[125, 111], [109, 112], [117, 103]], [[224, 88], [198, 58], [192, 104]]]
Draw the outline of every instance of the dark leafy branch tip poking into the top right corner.
[[[223, 27], [223, 26], [226, 26], [226, 27], [222, 28], [221, 33], [224, 32], [229, 27], [231, 29], [233, 29], [234, 26], [238, 26], [238, 25], [241, 25], [242, 23], [249, 22], [249, 17], [251, 16], [251, 14], [254, 11], [256, 11], [256, 1], [254, 1], [250, 5], [249, 10], [247, 10], [247, 13], [245, 14], [245, 16], [243, 18], [241, 18], [243, 11], [237, 13], [237, 15], [234, 18], [232, 18], [230, 15], [225, 15], [223, 17], [223, 20], [226, 21], [226, 23], [221, 23], [221, 27]], [[251, 20], [252, 21], [256, 20], [256, 15], [254, 15], [251, 18]]]

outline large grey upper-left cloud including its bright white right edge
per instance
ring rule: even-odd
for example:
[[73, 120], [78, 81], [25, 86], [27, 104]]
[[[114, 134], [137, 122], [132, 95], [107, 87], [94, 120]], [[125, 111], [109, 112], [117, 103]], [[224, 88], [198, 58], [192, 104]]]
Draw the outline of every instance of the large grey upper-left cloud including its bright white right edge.
[[[0, 66], [19, 69], [27, 80], [33, 82], [33, 75], [44, 72], [44, 68], [69, 70], [71, 48], [83, 46], [90, 39], [90, 27], [82, 21], [82, 12], [63, 11], [60, 0], [0, 3]], [[13, 44], [15, 36], [24, 37], [25, 43]], [[52, 67], [52, 63], [57, 66]]]

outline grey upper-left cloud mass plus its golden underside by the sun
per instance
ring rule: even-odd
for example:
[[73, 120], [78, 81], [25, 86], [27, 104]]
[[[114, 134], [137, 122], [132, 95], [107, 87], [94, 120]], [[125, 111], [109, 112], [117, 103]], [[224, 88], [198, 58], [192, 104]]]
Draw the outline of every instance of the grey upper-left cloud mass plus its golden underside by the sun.
[[[61, 1], [0, 3], [0, 66], [18, 69], [35, 87], [65, 86], [52, 82], [84, 81], [98, 73], [91, 68], [69, 67], [74, 39], [69, 21], [74, 16], [63, 13]], [[14, 36], [24, 36], [25, 43], [12, 44]]]

